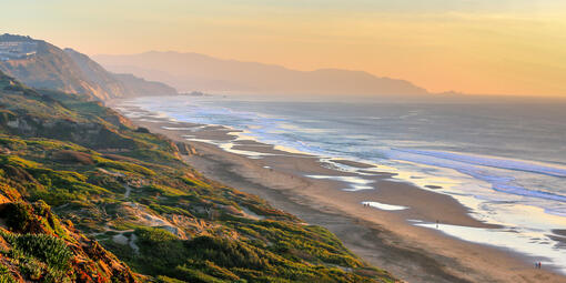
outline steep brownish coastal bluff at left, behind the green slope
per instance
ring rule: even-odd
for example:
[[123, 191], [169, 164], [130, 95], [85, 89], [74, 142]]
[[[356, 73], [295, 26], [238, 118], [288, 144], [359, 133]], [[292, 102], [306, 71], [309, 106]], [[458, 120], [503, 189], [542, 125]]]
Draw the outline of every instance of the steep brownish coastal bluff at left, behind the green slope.
[[[0, 36], [0, 70], [39, 89], [80, 93], [95, 100], [170, 95], [168, 85], [108, 72], [89, 57], [29, 37]], [[151, 93], [138, 92], [151, 90]]]

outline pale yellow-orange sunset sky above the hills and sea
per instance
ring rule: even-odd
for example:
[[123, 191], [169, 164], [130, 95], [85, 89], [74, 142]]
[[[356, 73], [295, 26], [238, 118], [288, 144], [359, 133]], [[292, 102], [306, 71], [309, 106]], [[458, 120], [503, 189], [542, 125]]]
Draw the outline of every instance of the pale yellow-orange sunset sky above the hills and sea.
[[564, 0], [18, 0], [0, 32], [87, 54], [340, 68], [431, 92], [566, 97]]

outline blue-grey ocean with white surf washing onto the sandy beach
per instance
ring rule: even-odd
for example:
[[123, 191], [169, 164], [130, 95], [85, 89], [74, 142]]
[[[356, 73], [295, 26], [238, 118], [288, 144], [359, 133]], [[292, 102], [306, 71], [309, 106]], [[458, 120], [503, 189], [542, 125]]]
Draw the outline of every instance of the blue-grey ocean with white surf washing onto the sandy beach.
[[472, 216], [503, 226], [446, 225], [444, 233], [512, 249], [566, 271], [564, 103], [316, 102], [222, 95], [141, 98], [129, 103], [179, 121], [242, 130], [240, 138], [284, 150], [375, 164], [377, 171], [396, 173], [397, 181], [452, 195], [471, 209]]

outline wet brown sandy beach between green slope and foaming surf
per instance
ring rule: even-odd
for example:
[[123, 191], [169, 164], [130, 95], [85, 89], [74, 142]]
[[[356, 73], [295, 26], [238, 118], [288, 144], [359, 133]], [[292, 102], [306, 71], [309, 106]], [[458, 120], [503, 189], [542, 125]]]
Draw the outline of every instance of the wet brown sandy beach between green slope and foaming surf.
[[[112, 105], [111, 105], [112, 107]], [[115, 104], [114, 104], [115, 107]], [[122, 105], [123, 107], [123, 105]], [[149, 114], [149, 112], [148, 112]], [[256, 152], [261, 159], [226, 152], [218, 145], [186, 141], [195, 135], [196, 124], [171, 122], [154, 115], [130, 118], [134, 124], [161, 133], [172, 140], [196, 148], [198, 155], [188, 163], [210, 179], [241, 191], [256, 194], [277, 209], [287, 211], [310, 224], [327, 228], [355, 254], [408, 282], [560, 282], [564, 276], [548, 270], [535, 270], [536, 259], [506, 249], [465, 242], [442, 233], [443, 224], [495, 228], [473, 219], [469, 210], [452, 196], [425, 191], [408, 183], [388, 180], [391, 173], [372, 176], [378, 190], [344, 191], [340, 180], [313, 179], [305, 175], [351, 178], [324, 166], [319, 158], [289, 153], [257, 142], [239, 143], [236, 152]], [[163, 129], [163, 127], [168, 128]], [[233, 139], [226, 129], [200, 125], [194, 140]], [[210, 128], [210, 129], [206, 129]], [[203, 130], [204, 129], [204, 130]], [[283, 155], [281, 155], [284, 153]], [[263, 154], [263, 155], [262, 155]], [[370, 169], [371, 165], [338, 161], [337, 163]], [[375, 173], [375, 172], [373, 172]], [[384, 211], [362, 205], [376, 201], [407, 210]], [[434, 208], [434, 209], [432, 209]], [[427, 223], [441, 221], [438, 230], [413, 225], [407, 220]], [[497, 263], [497, 265], [494, 265]]]

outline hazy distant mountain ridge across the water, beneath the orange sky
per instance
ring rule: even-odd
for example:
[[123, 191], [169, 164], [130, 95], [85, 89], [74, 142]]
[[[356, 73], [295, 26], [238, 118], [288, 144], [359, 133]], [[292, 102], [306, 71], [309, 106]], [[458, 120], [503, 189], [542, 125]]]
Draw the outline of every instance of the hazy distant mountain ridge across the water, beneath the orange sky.
[[295, 71], [280, 65], [222, 60], [198, 53], [146, 52], [94, 55], [113, 72], [162, 81], [180, 91], [230, 91], [261, 94], [423, 95], [427, 91], [404, 80], [367, 72], [323, 69]]

